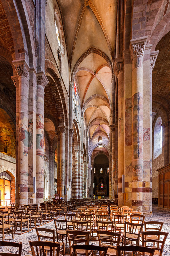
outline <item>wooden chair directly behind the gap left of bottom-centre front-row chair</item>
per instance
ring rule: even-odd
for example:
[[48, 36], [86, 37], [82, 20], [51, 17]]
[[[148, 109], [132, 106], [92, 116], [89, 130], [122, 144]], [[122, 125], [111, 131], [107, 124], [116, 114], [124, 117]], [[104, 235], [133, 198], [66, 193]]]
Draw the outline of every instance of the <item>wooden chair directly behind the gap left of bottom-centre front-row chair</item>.
[[[89, 244], [89, 231], [77, 231], [77, 230], [66, 230], [66, 234], [69, 241], [70, 256], [73, 256], [72, 244], [83, 243], [84, 245]], [[81, 236], [81, 237], [79, 237]], [[78, 237], [78, 238], [77, 238]], [[85, 251], [78, 251], [78, 254], [85, 254]]]

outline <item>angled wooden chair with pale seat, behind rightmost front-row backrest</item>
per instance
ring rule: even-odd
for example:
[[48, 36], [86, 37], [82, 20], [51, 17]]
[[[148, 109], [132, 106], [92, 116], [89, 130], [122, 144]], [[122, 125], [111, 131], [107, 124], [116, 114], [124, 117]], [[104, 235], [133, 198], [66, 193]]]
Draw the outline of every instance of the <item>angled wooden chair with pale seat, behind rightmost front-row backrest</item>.
[[125, 221], [125, 231], [122, 232], [122, 245], [125, 246], [127, 242], [135, 242], [135, 246], [138, 246], [143, 225]]

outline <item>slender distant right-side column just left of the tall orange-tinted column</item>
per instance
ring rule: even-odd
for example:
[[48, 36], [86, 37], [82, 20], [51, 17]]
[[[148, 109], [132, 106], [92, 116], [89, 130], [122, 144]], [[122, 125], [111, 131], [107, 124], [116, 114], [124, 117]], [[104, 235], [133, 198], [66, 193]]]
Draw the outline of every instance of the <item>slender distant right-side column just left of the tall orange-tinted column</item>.
[[[109, 172], [112, 172], [112, 198], [115, 198], [115, 125], [112, 125], [110, 128], [110, 133], [112, 137], [112, 168]], [[114, 189], [114, 196], [113, 196]]]

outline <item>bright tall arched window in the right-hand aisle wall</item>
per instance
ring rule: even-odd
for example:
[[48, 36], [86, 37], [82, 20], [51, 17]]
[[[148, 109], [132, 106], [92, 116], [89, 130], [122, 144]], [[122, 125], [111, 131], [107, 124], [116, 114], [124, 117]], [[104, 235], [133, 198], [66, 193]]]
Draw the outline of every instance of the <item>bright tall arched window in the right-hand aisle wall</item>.
[[154, 144], [153, 144], [153, 158], [155, 159], [162, 154], [162, 119], [158, 117], [154, 127]]

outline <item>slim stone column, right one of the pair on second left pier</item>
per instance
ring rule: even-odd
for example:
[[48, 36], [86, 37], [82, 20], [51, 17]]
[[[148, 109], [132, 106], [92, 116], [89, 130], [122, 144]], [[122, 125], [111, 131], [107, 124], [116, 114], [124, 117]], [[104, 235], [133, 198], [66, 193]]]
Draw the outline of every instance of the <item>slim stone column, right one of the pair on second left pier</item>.
[[73, 134], [74, 134], [74, 130], [69, 129], [69, 190], [70, 190], [70, 198], [72, 198], [72, 189], [73, 189], [73, 180], [72, 180]]

